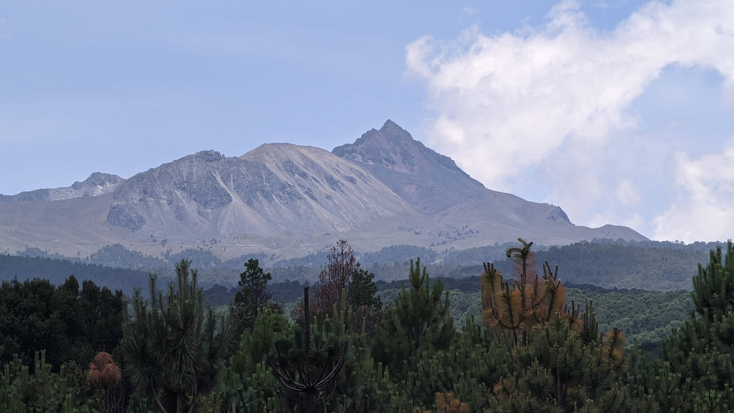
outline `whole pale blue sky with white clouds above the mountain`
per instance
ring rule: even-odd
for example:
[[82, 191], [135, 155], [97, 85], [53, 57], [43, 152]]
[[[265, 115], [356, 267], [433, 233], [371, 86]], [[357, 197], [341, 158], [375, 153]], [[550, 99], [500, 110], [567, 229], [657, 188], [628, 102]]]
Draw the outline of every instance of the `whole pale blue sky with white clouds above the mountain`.
[[0, 193], [390, 118], [574, 223], [726, 240], [733, 56], [731, 0], [6, 1]]

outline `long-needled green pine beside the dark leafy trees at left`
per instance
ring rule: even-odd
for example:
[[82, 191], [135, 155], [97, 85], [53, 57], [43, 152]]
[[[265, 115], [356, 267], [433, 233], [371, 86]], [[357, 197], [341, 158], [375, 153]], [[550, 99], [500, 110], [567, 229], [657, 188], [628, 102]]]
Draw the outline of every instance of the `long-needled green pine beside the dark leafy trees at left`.
[[[197, 270], [182, 259], [164, 299], [150, 276], [150, 306], [134, 292], [134, 318], [120, 343], [126, 372], [138, 392], [150, 395], [164, 413], [194, 412], [198, 398], [214, 391], [222, 376], [233, 312], [217, 323], [204, 306]], [[217, 325], [218, 324], [218, 325]]]

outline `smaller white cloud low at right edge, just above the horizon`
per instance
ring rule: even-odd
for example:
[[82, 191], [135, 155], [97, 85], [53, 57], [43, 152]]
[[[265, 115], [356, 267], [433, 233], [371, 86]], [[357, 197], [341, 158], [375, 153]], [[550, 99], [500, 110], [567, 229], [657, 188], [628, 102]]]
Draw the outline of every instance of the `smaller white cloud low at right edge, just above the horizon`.
[[734, 138], [713, 154], [677, 154], [679, 198], [655, 217], [655, 239], [724, 241], [734, 238]]

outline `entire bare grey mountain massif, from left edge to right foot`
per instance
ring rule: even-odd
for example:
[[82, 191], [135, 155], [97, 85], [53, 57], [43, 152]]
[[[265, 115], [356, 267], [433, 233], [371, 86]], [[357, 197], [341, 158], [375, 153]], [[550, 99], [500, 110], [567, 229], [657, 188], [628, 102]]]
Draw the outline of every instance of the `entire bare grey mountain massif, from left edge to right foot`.
[[153, 256], [193, 247], [290, 258], [339, 238], [363, 252], [517, 237], [544, 245], [646, 240], [623, 226], [575, 226], [559, 206], [489, 190], [392, 121], [331, 152], [289, 143], [241, 157], [200, 151], [130, 179], [95, 173], [10, 198], [0, 203], [0, 251], [86, 255], [121, 243]]

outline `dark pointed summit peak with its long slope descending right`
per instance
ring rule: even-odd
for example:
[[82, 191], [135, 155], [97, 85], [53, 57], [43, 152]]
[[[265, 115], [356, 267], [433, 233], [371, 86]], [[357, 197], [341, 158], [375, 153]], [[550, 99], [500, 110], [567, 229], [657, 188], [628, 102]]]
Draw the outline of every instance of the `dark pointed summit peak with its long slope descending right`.
[[390, 120], [332, 153], [369, 170], [417, 212], [456, 227], [483, 229], [506, 240], [545, 240], [545, 245], [595, 237], [646, 240], [624, 226], [575, 226], [559, 206], [488, 190], [451, 158], [426, 148]]

